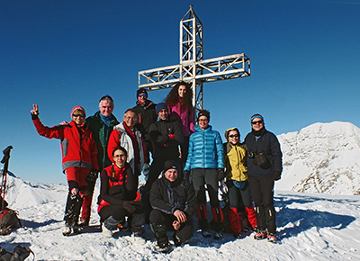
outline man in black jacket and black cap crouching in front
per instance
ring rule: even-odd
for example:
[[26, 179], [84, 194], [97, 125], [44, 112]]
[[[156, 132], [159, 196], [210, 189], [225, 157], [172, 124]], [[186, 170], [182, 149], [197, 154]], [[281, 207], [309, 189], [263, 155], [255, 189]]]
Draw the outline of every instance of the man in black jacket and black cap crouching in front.
[[179, 176], [179, 166], [175, 160], [167, 160], [163, 175], [154, 182], [150, 190], [150, 228], [157, 238], [157, 246], [162, 251], [168, 248], [167, 230], [175, 230], [175, 246], [182, 246], [193, 237], [193, 215], [196, 198], [193, 186]]

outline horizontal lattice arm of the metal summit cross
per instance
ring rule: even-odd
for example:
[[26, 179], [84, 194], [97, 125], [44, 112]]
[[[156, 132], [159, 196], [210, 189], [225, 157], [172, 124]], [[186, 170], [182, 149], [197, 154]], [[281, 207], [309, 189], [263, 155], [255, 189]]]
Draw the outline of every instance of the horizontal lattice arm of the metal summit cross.
[[157, 90], [171, 87], [180, 80], [190, 82], [196, 79], [204, 83], [245, 76], [250, 76], [250, 59], [241, 53], [139, 71], [139, 87]]

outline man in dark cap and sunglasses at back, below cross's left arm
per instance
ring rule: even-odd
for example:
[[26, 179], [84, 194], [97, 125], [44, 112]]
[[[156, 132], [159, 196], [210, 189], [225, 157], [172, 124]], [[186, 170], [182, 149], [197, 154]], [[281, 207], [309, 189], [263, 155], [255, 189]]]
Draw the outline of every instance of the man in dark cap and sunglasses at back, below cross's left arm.
[[157, 121], [157, 113], [155, 111], [156, 104], [148, 100], [148, 92], [145, 88], [140, 88], [136, 92], [138, 101], [136, 106], [132, 108], [135, 112], [138, 113], [139, 119], [136, 124], [136, 128], [139, 129], [143, 135], [145, 142], [145, 155], [146, 163], [150, 161], [150, 154], [153, 153], [152, 144], [150, 138], [148, 137], [148, 128], [150, 125]]

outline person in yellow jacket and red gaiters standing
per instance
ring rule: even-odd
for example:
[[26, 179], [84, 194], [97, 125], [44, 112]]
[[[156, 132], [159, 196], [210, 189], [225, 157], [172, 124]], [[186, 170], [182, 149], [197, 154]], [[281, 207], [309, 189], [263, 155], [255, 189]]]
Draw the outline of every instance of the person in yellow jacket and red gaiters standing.
[[[239, 202], [243, 202], [245, 213], [252, 229], [257, 229], [257, 215], [252, 203], [247, 181], [247, 146], [240, 143], [237, 128], [225, 131], [224, 164], [229, 189], [229, 224], [236, 238], [241, 238], [241, 221], [238, 216]], [[247, 228], [244, 228], [247, 229]]]

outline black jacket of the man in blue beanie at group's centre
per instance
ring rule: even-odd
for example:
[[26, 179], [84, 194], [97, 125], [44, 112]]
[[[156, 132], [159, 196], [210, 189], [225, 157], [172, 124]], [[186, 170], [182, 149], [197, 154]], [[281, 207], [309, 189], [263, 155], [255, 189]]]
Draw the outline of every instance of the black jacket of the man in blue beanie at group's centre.
[[[169, 134], [174, 134], [174, 139], [170, 139]], [[154, 148], [153, 157], [179, 157], [178, 145], [184, 142], [184, 134], [180, 121], [175, 117], [169, 115], [166, 121], [159, 120], [151, 124], [149, 137]]]

